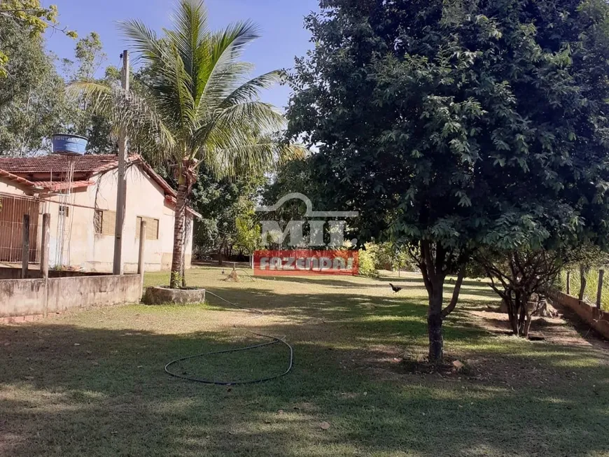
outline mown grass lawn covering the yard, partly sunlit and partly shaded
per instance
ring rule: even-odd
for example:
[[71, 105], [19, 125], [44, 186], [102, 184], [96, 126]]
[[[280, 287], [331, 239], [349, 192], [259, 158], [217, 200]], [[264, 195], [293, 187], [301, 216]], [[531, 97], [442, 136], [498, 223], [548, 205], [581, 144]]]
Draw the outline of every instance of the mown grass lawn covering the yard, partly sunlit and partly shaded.
[[[188, 277], [268, 313], [246, 325], [286, 335], [293, 372], [232, 388], [165, 374], [174, 358], [261, 342], [232, 328], [250, 313], [214, 297], [0, 325], [0, 455], [609, 456], [606, 346], [554, 319], [533, 324], [542, 342], [503, 335], [484, 283], [465, 284], [444, 328], [447, 355], [465, 371], [430, 374], [416, 363], [426, 307], [414, 275], [391, 279], [404, 288], [397, 295], [388, 279]], [[149, 274], [146, 284], [167, 279]], [[276, 344], [179, 370], [264, 377], [287, 356]]]

